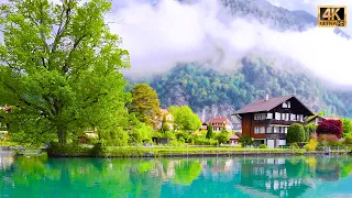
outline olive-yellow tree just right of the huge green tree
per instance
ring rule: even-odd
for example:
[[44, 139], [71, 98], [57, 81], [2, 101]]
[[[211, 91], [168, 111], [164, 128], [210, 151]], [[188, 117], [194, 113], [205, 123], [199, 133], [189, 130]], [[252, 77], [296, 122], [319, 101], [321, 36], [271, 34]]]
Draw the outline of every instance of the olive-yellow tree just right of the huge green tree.
[[132, 90], [132, 102], [129, 106], [130, 113], [147, 125], [157, 128], [162, 112], [156, 91], [147, 84], [138, 84]]

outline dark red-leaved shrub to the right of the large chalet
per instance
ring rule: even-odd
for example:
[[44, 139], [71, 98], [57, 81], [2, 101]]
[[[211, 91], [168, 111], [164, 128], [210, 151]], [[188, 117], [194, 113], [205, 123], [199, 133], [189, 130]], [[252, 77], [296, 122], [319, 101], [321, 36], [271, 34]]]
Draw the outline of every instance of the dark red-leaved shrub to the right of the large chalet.
[[342, 122], [340, 120], [323, 120], [319, 122], [317, 134], [319, 136], [322, 134], [333, 134], [340, 139], [342, 134]]

